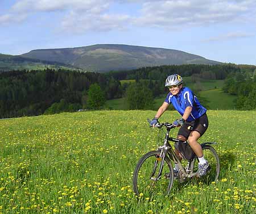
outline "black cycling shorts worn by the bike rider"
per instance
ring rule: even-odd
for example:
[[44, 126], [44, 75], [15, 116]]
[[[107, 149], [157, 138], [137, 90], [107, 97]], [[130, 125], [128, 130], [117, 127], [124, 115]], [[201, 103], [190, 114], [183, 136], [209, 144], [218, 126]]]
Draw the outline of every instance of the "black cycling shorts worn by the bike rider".
[[[193, 127], [193, 130], [188, 129], [188, 127]], [[179, 132], [177, 135], [182, 135], [186, 139], [192, 131], [197, 131], [200, 133], [200, 136], [204, 135], [204, 132], [207, 131], [208, 128], [208, 118], [207, 114], [205, 113], [200, 118], [197, 118], [193, 121], [185, 121], [183, 127], [180, 127]]]

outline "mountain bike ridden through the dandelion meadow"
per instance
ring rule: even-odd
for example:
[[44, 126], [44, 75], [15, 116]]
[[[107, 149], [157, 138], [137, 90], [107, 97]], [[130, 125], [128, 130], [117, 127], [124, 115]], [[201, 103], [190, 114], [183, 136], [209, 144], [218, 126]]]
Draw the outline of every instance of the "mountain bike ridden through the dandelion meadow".
[[[176, 126], [170, 123], [158, 123], [155, 127], [159, 129], [165, 127], [166, 133], [163, 145], [144, 154], [137, 163], [133, 174], [133, 191], [138, 196], [140, 194], [148, 197], [170, 194], [174, 183], [172, 162], [179, 165], [177, 180], [180, 183], [199, 177], [197, 174], [198, 159], [188, 142], [170, 137], [171, 129], [176, 128]], [[192, 130], [193, 127], [188, 127], [188, 129]], [[169, 141], [175, 142], [175, 148], [179, 150], [179, 155], [187, 163], [186, 166], [183, 166], [184, 163], [181, 163]], [[204, 157], [209, 163], [207, 174], [200, 178], [205, 183], [216, 182], [220, 174], [220, 160], [216, 150], [211, 146], [212, 144], [216, 144], [216, 142], [204, 142], [201, 144]]]

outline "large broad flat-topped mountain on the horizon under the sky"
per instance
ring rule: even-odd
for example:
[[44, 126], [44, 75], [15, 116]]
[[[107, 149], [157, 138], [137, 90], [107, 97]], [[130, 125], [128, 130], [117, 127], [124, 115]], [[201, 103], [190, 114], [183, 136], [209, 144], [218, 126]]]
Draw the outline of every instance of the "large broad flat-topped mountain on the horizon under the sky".
[[146, 66], [220, 64], [204, 57], [174, 49], [121, 44], [98, 44], [77, 48], [38, 49], [21, 56], [70, 64], [95, 72], [130, 70]]

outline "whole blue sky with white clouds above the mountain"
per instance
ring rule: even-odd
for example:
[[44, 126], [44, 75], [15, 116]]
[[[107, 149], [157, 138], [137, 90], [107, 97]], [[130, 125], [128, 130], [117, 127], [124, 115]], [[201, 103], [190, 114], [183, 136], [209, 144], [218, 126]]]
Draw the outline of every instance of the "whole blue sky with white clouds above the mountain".
[[0, 53], [94, 44], [256, 65], [256, 1], [0, 0]]

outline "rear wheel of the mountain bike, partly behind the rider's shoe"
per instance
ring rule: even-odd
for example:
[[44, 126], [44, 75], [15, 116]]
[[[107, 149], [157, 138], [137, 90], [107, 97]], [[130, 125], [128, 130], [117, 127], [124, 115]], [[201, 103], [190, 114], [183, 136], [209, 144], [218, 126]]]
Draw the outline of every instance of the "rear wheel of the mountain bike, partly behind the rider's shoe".
[[[218, 180], [218, 175], [220, 174], [220, 160], [216, 150], [210, 145], [204, 145], [202, 147], [204, 158], [209, 163], [209, 170], [206, 175], [201, 179], [205, 183], [216, 182]], [[193, 161], [193, 172], [195, 173], [198, 170], [198, 159], [195, 158]]]

